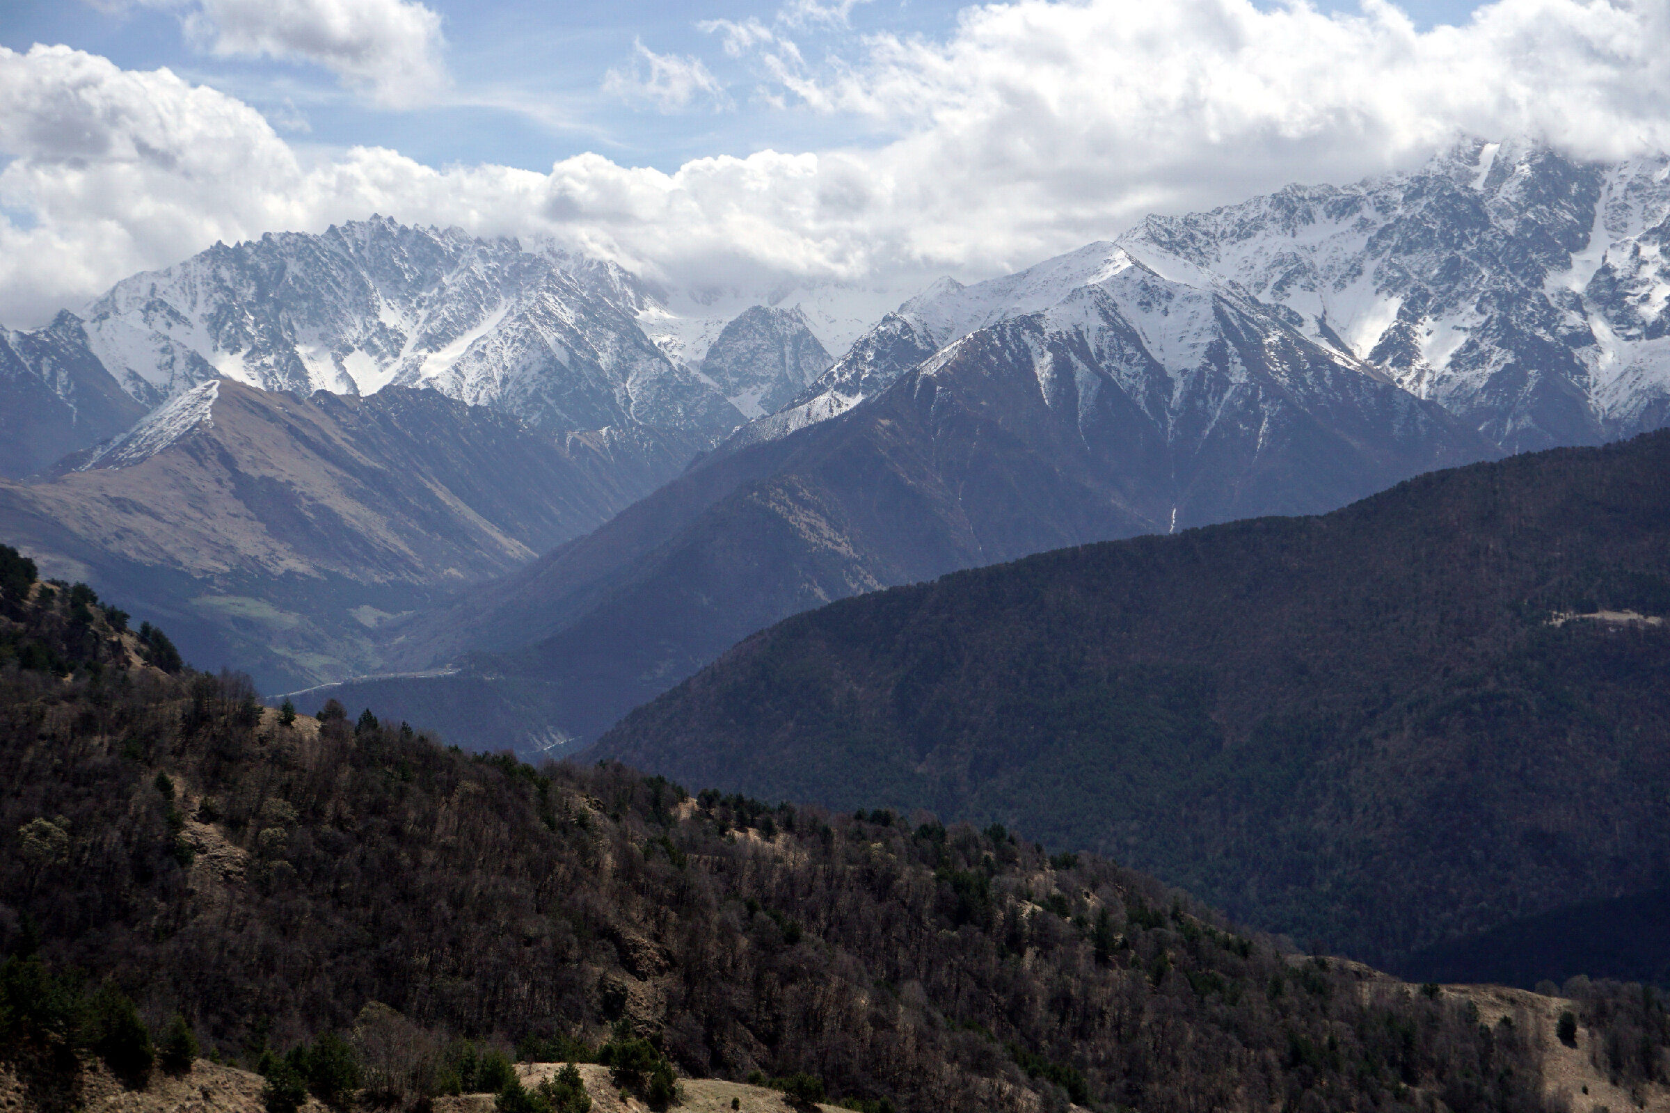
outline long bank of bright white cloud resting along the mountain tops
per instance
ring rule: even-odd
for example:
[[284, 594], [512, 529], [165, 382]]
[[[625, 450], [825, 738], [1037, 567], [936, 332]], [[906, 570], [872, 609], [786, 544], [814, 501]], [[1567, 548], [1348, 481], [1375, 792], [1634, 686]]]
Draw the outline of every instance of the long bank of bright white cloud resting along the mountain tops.
[[[738, 55], [790, 58], [782, 28], [736, 27]], [[817, 67], [797, 52], [790, 80], [762, 68], [770, 95], [865, 118], [877, 145], [671, 174], [601, 155], [548, 174], [376, 149], [306, 162], [249, 107], [165, 70], [3, 52], [0, 207], [32, 219], [0, 224], [0, 319], [30, 324], [214, 239], [371, 212], [549, 235], [675, 287], [980, 277], [1146, 212], [1411, 165], [1461, 133], [1663, 150], [1663, 42], [1662, 0], [1498, 0], [1428, 32], [1374, 0], [1349, 17], [1017, 0], [965, 10], [942, 42], [870, 37]]]

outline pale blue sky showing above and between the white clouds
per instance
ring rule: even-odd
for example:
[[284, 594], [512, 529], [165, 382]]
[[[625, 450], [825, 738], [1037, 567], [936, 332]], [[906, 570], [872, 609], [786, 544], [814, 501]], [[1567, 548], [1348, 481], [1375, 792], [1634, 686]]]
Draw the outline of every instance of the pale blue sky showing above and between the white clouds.
[[[544, 170], [595, 150], [628, 165], [675, 170], [701, 155], [748, 155], [767, 147], [817, 150], [878, 142], [865, 120], [772, 107], [752, 93], [758, 73], [730, 58], [711, 20], [770, 23], [778, 3], [680, 3], [668, 0], [426, 0], [443, 20], [443, 58], [453, 87], [439, 103], [379, 108], [339, 87], [306, 60], [214, 57], [194, 48], [177, 7], [92, 5], [80, 0], [0, 0], [0, 45], [63, 43], [110, 58], [127, 70], [169, 67], [259, 108], [294, 144], [384, 145], [426, 165], [493, 162]], [[848, 27], [802, 27], [802, 50], [815, 60], [848, 52], [862, 35], [947, 37], [952, 0], [870, 0], [848, 13]], [[1354, 12], [1356, 3], [1319, 3]], [[1466, 0], [1404, 0], [1421, 28], [1465, 22]], [[696, 57], [730, 100], [681, 112], [625, 103], [603, 92], [606, 73], [633, 63], [635, 43], [660, 55]]]

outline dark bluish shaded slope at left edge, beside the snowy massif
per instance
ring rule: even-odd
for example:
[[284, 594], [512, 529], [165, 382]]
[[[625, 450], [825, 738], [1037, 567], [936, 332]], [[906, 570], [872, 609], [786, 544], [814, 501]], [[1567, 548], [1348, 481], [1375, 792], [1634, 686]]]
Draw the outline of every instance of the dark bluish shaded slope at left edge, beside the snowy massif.
[[144, 414], [87, 350], [73, 314], [33, 332], [0, 330], [0, 477], [43, 471]]

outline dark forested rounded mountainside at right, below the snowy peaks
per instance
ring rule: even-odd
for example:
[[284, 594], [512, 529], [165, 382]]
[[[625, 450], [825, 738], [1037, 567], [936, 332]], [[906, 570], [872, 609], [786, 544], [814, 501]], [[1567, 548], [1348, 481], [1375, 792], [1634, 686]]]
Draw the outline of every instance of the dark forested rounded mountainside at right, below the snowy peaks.
[[1662, 884], [1667, 481], [1657, 432], [840, 602], [593, 753], [1020, 824], [1398, 968]]

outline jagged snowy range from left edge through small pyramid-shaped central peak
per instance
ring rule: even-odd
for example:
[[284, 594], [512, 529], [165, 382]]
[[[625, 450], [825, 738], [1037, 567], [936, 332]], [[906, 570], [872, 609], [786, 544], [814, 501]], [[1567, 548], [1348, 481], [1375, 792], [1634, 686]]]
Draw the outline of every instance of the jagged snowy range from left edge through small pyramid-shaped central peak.
[[[668, 359], [640, 315], [668, 317], [613, 264], [456, 229], [372, 217], [322, 235], [217, 244], [119, 282], [82, 315], [8, 334], [0, 382], [20, 405], [0, 421], [17, 434], [8, 444], [30, 447], [13, 449], [3, 474], [40, 471], [217, 377], [299, 395], [429, 387], [534, 429], [711, 441], [828, 362], [802, 314], [760, 307], [748, 337], [721, 334], [711, 367], [738, 409], [706, 364]], [[773, 342], [785, 352], [775, 367], [746, 359]], [[745, 352], [746, 369], [726, 362], [730, 349]]]

